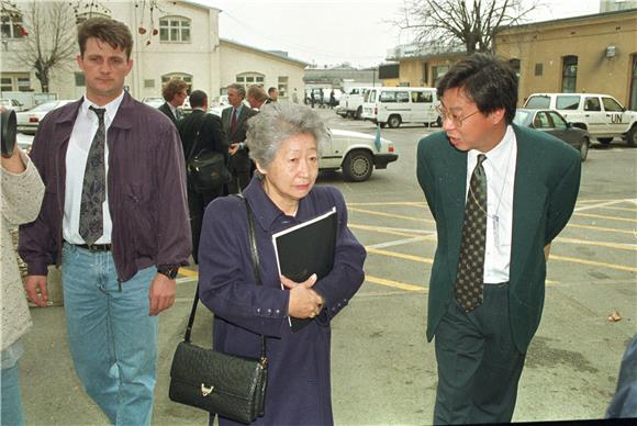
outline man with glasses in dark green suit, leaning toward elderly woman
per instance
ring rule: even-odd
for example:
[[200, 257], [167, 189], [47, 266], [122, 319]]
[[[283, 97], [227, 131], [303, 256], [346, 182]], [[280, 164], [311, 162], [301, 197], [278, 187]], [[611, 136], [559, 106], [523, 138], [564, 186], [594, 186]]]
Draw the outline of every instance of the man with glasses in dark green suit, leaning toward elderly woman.
[[417, 150], [438, 236], [427, 312], [434, 423], [507, 423], [541, 316], [548, 249], [577, 201], [580, 158], [512, 124], [517, 77], [503, 60], [471, 55], [437, 90], [444, 132]]

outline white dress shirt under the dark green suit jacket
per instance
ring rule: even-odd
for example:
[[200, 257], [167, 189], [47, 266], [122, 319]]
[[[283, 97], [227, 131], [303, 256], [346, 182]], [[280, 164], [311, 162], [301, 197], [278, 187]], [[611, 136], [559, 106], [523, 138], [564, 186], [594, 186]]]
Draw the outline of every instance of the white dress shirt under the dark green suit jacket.
[[471, 173], [478, 164], [478, 155], [484, 154], [482, 162], [487, 175], [487, 249], [484, 254], [484, 282], [509, 281], [511, 265], [511, 237], [513, 229], [513, 188], [517, 143], [510, 125], [502, 141], [489, 153], [471, 149], [467, 156], [467, 194]]

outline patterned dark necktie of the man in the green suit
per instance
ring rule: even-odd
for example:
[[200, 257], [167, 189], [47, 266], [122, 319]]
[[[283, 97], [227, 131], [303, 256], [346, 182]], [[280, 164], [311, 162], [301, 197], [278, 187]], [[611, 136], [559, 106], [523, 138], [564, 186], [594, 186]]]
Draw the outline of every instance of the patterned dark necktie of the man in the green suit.
[[456, 277], [456, 299], [470, 312], [482, 304], [484, 287], [484, 250], [487, 243], [487, 175], [482, 162], [484, 154], [478, 155], [478, 164], [469, 182], [465, 205], [462, 245]]

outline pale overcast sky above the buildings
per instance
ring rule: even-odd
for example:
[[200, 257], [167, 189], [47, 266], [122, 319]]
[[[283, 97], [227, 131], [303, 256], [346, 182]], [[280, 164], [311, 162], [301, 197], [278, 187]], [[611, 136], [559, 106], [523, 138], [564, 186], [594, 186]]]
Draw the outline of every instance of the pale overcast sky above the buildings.
[[[411, 42], [388, 20], [402, 0], [194, 0], [221, 9], [220, 36], [310, 64], [375, 66]], [[543, 0], [534, 21], [597, 13], [600, 0]]]

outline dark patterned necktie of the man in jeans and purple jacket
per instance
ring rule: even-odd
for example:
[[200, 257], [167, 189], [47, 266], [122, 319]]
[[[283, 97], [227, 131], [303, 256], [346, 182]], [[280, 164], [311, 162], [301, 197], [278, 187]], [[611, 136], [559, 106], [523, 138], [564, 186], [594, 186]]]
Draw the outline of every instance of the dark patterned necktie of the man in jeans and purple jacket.
[[86, 244], [94, 244], [104, 233], [102, 205], [107, 200], [107, 170], [104, 165], [104, 145], [107, 132], [103, 108], [89, 107], [98, 115], [98, 132], [89, 149], [82, 198], [80, 204], [79, 233]]

